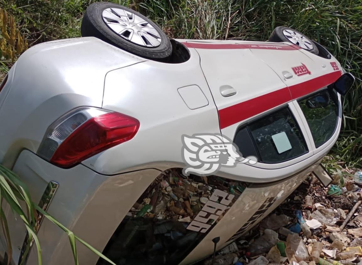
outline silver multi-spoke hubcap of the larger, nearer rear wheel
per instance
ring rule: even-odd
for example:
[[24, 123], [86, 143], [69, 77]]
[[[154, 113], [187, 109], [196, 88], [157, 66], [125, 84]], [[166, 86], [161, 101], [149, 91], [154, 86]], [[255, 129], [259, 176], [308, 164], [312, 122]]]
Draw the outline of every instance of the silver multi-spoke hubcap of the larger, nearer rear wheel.
[[117, 35], [143, 47], [157, 47], [161, 36], [157, 30], [142, 17], [121, 8], [106, 8], [102, 12], [105, 24]]

